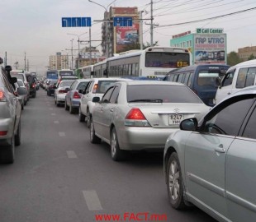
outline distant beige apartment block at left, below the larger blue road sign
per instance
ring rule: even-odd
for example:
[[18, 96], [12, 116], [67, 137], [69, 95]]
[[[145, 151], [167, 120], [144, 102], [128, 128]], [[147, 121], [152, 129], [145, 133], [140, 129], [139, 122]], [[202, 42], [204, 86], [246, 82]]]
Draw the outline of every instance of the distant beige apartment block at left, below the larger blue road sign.
[[69, 56], [62, 55], [61, 53], [56, 53], [50, 56], [49, 69], [59, 70], [69, 68]]

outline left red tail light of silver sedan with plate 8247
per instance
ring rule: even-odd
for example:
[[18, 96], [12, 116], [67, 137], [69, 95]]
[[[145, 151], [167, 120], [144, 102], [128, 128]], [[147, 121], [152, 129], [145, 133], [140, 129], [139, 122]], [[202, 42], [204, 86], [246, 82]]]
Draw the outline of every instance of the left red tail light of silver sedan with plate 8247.
[[130, 112], [126, 115], [125, 126], [128, 127], [150, 127], [148, 120], [140, 109], [130, 109]]

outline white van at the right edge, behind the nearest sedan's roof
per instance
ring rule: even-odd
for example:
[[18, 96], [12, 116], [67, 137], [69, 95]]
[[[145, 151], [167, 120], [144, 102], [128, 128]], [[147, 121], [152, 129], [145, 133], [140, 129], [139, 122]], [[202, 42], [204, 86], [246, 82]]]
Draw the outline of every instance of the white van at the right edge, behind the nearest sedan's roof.
[[218, 104], [226, 96], [244, 89], [244, 87], [254, 86], [256, 84], [255, 73], [256, 59], [240, 62], [234, 67], [230, 67], [220, 82], [215, 104]]

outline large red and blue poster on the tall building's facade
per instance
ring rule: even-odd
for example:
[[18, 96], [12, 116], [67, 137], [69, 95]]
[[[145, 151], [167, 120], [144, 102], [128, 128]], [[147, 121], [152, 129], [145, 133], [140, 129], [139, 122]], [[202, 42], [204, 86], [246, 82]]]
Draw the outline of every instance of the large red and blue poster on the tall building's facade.
[[127, 44], [139, 44], [139, 24], [132, 26], [116, 26], [116, 53], [119, 53]]

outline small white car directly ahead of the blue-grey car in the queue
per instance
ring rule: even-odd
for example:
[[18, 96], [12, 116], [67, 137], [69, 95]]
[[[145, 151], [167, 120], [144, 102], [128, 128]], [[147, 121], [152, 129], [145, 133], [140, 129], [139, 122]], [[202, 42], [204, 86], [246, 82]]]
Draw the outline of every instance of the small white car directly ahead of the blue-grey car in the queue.
[[55, 88], [55, 104], [59, 106], [59, 104], [65, 103], [65, 97], [69, 90], [69, 87], [73, 83], [74, 80], [69, 81], [60, 81]]

